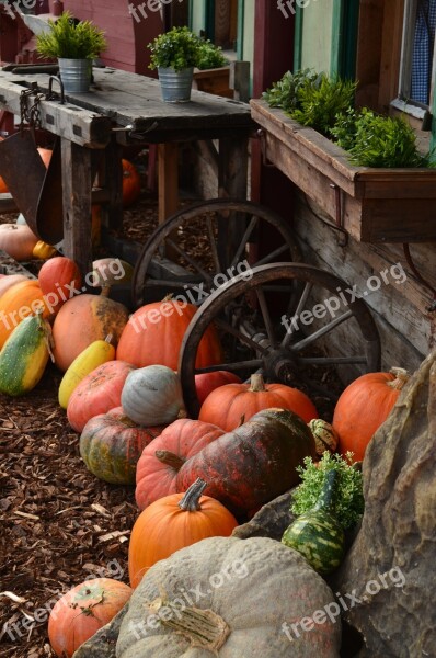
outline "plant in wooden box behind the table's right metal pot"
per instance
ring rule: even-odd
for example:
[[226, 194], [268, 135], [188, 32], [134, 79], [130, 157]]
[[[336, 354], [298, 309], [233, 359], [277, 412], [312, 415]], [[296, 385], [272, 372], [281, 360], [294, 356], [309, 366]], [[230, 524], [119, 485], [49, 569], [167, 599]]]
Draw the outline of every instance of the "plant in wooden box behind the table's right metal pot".
[[230, 66], [222, 48], [209, 39], [199, 39], [198, 59], [194, 69], [194, 89], [228, 98], [233, 97], [230, 89]]

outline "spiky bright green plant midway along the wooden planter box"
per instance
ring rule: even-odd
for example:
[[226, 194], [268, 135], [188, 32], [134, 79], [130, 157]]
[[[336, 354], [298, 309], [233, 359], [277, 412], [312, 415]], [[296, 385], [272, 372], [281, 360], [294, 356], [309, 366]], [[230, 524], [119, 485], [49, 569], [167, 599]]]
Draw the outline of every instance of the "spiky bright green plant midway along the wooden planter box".
[[357, 82], [329, 78], [325, 73], [308, 79], [297, 92], [297, 107], [291, 117], [322, 135], [330, 135], [336, 116], [354, 106]]

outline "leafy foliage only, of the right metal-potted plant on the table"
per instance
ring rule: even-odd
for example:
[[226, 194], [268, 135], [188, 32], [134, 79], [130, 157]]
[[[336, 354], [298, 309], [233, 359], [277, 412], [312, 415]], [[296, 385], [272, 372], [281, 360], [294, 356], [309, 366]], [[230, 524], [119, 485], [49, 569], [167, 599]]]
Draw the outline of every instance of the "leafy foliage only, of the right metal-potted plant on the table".
[[181, 71], [197, 66], [199, 42], [199, 37], [186, 26], [173, 27], [160, 34], [147, 46], [151, 50], [150, 68], [173, 68]]

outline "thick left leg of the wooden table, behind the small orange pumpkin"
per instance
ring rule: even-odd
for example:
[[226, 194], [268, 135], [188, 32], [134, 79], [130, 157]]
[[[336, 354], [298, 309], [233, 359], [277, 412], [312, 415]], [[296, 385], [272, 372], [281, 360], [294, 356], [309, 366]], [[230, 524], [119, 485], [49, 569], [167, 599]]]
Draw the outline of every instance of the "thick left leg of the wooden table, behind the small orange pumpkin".
[[92, 270], [91, 150], [62, 139], [64, 252], [83, 277]]

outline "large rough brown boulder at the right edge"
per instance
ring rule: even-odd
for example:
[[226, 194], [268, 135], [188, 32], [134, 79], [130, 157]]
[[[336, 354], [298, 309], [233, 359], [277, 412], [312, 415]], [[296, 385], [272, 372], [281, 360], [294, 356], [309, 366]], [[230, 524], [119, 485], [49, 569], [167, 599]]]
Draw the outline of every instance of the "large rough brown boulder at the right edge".
[[360, 532], [335, 578], [370, 656], [435, 656], [436, 351], [405, 385], [364, 464]]

